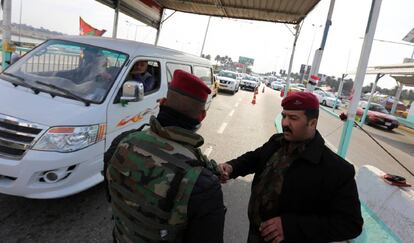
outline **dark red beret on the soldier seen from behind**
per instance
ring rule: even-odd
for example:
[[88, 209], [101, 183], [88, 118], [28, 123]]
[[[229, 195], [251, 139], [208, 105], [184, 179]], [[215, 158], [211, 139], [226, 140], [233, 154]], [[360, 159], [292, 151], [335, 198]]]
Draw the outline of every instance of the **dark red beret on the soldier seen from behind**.
[[180, 69], [175, 70], [169, 89], [201, 102], [206, 102], [211, 93], [203, 80]]

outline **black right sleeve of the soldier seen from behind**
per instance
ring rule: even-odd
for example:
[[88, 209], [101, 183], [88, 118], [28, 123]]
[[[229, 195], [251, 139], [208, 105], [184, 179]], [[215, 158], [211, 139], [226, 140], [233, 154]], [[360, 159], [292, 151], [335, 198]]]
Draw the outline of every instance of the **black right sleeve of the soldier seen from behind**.
[[186, 243], [222, 243], [225, 207], [220, 181], [203, 169], [188, 202]]

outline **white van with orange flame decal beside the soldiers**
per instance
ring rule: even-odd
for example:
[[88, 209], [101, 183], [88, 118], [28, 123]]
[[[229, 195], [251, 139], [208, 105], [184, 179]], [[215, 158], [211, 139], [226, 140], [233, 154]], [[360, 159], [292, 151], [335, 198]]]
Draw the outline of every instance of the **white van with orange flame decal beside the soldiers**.
[[[151, 89], [134, 81], [138, 61]], [[58, 198], [102, 182], [113, 141], [158, 113], [176, 69], [213, 85], [208, 60], [133, 41], [68, 36], [24, 55], [0, 74], [0, 193]]]

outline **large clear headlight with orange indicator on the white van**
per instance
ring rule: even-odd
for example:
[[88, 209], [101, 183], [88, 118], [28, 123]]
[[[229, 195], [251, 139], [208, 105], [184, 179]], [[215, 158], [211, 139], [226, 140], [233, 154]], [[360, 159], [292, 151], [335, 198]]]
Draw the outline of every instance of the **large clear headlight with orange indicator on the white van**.
[[52, 127], [33, 147], [34, 150], [72, 152], [104, 139], [106, 125]]

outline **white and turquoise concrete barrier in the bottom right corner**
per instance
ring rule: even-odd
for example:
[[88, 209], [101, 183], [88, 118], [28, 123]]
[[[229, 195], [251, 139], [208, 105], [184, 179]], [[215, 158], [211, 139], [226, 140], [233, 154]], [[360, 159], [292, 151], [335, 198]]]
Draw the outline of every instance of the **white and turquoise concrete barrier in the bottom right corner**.
[[375, 242], [366, 238], [379, 234], [388, 238], [377, 242], [414, 241], [414, 191], [387, 184], [384, 174], [370, 165], [359, 168], [356, 182], [365, 223], [364, 233], [354, 242]]

